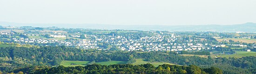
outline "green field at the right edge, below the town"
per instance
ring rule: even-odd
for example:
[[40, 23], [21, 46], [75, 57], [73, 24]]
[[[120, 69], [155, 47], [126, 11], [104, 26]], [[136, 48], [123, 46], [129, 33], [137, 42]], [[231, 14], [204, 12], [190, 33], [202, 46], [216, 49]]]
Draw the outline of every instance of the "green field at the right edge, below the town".
[[[236, 58], [242, 58], [244, 56], [256, 56], [256, 52], [247, 52], [247, 51], [237, 51], [236, 54], [232, 55], [222, 55], [222, 57], [236, 57]], [[219, 56], [220, 57], [220, 56]]]

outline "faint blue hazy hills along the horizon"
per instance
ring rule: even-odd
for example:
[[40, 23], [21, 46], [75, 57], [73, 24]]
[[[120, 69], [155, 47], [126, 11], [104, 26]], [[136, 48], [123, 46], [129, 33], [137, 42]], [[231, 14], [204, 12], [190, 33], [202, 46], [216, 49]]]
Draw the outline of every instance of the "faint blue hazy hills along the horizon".
[[2, 26], [34, 26], [34, 27], [64, 27], [107, 30], [141, 30], [141, 31], [216, 31], [216, 32], [256, 32], [256, 23], [237, 25], [103, 25], [103, 24], [22, 24], [0, 22]]

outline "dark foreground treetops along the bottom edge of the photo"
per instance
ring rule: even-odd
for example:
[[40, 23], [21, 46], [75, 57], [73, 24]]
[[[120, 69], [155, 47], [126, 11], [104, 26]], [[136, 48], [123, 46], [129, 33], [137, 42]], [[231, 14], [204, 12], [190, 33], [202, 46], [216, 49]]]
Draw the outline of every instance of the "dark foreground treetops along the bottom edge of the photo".
[[[23, 71], [23, 70], [21, 70]], [[15, 72], [21, 72], [16, 70]], [[35, 71], [26, 71], [27, 74], [222, 74], [219, 68], [199, 68], [195, 65], [176, 66], [163, 64], [155, 67], [152, 64], [131, 65], [99, 65], [92, 64], [85, 67], [64, 67], [44, 68]]]

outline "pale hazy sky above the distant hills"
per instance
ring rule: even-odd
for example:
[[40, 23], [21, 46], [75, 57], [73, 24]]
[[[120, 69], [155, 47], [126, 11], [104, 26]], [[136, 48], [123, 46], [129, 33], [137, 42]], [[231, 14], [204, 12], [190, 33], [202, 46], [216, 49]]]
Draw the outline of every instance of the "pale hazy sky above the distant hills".
[[0, 21], [113, 25], [256, 23], [256, 0], [0, 0]]

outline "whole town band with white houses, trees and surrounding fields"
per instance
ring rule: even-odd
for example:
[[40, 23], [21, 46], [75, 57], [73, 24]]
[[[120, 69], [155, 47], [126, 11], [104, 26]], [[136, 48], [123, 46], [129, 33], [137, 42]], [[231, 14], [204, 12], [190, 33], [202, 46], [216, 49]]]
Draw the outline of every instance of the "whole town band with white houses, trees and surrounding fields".
[[[150, 52], [205, 51], [227, 46], [243, 48], [244, 51], [256, 48], [255, 33], [241, 33], [241, 35], [230, 33], [231, 35], [219, 36], [211, 34], [215, 32], [195, 32], [196, 34], [189, 35], [186, 32], [168, 31], [90, 30], [31, 26], [3, 26], [2, 28], [4, 29], [0, 33], [1, 42], [41, 46], [65, 45], [79, 49]], [[251, 39], [254, 42], [228, 40], [230, 38]]]

